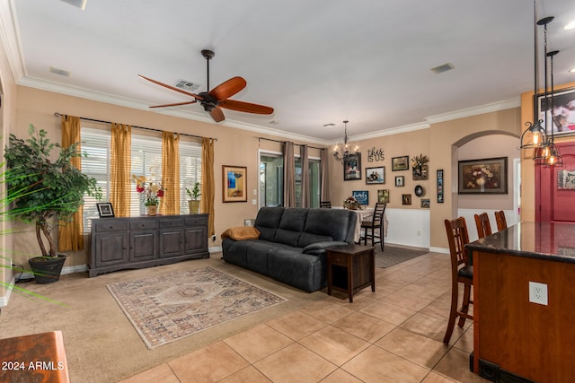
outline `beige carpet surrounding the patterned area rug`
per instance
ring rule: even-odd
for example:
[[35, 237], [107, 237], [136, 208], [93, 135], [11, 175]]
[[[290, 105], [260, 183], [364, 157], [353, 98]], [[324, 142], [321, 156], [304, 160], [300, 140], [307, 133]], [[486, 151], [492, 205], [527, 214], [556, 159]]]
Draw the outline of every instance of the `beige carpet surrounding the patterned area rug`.
[[[148, 350], [146, 344], [108, 292], [107, 285], [191, 268], [213, 267], [273, 292], [286, 301], [267, 309], [212, 326], [178, 342]], [[173, 265], [125, 270], [88, 278], [86, 273], [62, 275], [50, 284], [21, 283], [19, 287], [66, 303], [66, 307], [13, 292], [0, 315], [0, 337], [61, 330], [72, 382], [111, 383], [171, 361], [187, 353], [238, 334], [273, 318], [326, 300], [324, 292], [303, 292], [240, 267], [229, 265], [221, 254]]]

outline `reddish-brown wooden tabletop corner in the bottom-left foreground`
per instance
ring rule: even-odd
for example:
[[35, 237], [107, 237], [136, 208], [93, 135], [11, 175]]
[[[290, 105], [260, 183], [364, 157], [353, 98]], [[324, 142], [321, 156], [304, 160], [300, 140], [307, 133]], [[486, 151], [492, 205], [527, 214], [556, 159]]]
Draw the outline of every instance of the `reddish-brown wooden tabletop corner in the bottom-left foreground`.
[[61, 331], [0, 339], [0, 381], [69, 382]]

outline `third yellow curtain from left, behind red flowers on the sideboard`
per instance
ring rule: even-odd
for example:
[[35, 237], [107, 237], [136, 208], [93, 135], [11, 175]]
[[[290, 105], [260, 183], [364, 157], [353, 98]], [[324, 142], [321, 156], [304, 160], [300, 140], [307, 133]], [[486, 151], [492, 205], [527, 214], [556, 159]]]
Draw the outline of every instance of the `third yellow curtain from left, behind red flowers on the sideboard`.
[[160, 213], [180, 213], [180, 135], [162, 132], [162, 186], [164, 197]]

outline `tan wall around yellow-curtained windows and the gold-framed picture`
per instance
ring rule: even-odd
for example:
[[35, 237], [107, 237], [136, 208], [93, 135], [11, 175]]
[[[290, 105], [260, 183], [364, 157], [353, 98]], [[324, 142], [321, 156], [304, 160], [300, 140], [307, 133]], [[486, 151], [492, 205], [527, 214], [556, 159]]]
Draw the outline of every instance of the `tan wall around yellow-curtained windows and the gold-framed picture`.
[[[53, 142], [60, 142], [60, 118], [54, 117], [54, 112], [93, 118], [105, 121], [113, 121], [133, 126], [145, 126], [161, 130], [169, 130], [190, 135], [209, 136], [217, 138], [215, 144], [214, 172], [216, 177], [216, 197], [215, 197], [215, 230], [217, 240], [209, 241], [209, 246], [218, 246], [221, 243], [219, 235], [231, 226], [243, 225], [243, 220], [253, 218], [257, 214], [258, 205], [252, 205], [252, 199], [258, 196], [252, 195], [252, 190], [258, 189], [258, 169], [259, 158], [258, 149], [281, 151], [281, 144], [266, 140], [259, 140], [258, 137], [266, 137], [257, 133], [235, 129], [227, 126], [217, 126], [211, 123], [192, 121], [184, 118], [174, 118], [147, 110], [129, 109], [103, 102], [85, 100], [76, 97], [66, 96], [49, 91], [40, 91], [28, 87], [18, 88], [16, 123], [12, 131], [15, 135], [26, 136], [29, 124], [38, 128], [43, 128], [49, 132], [49, 138]], [[87, 126], [105, 127], [103, 124], [86, 123]], [[285, 138], [267, 135], [267, 138], [274, 140], [285, 140]], [[295, 144], [306, 144], [295, 142]], [[309, 144], [309, 143], [307, 143]], [[314, 147], [321, 145], [311, 144]], [[296, 154], [298, 149], [296, 148]], [[319, 157], [319, 150], [311, 149], [310, 155]], [[226, 203], [222, 202], [222, 166], [245, 166], [247, 167], [247, 203]], [[22, 226], [22, 230], [28, 231], [16, 235], [15, 248], [23, 253], [20, 256], [22, 264], [27, 264], [27, 257], [37, 254], [38, 244], [32, 235], [31, 226]], [[74, 257], [68, 257], [66, 266], [85, 265], [87, 257], [83, 252], [78, 252]]]

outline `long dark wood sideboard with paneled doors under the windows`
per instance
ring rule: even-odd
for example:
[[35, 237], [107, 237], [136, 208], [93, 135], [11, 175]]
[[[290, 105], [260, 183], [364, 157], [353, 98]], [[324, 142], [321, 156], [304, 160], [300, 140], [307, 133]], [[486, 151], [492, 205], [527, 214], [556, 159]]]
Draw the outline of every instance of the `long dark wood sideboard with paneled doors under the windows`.
[[91, 241], [90, 277], [208, 258], [208, 214], [94, 219]]

